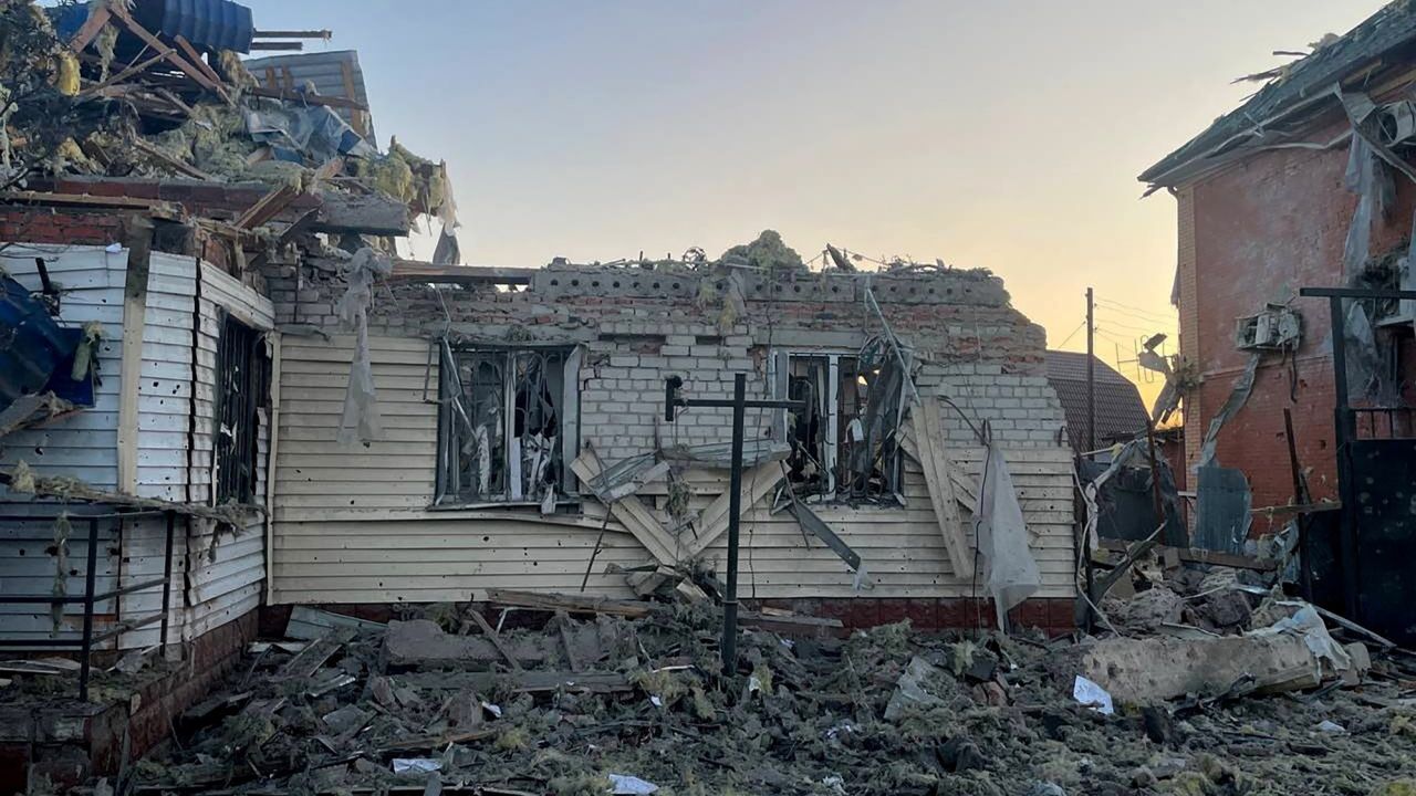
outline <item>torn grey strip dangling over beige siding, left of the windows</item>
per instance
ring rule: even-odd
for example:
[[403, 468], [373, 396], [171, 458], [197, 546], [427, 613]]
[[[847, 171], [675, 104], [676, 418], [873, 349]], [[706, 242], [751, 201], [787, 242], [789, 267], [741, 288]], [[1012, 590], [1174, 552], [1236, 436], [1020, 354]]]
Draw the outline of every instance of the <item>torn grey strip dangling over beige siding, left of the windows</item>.
[[378, 415], [378, 395], [374, 391], [374, 365], [368, 348], [368, 306], [374, 300], [374, 280], [394, 272], [387, 256], [364, 246], [354, 252], [346, 269], [348, 290], [334, 305], [344, 331], [354, 331], [354, 361], [350, 363], [350, 384], [340, 415], [338, 440], [370, 443], [382, 433]]

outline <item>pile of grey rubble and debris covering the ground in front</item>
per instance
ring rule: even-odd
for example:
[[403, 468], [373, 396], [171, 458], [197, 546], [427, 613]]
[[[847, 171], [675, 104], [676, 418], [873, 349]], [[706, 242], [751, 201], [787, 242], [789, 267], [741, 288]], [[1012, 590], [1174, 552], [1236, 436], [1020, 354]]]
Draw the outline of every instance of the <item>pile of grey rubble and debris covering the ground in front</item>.
[[1297, 627], [1225, 636], [1229, 659], [1180, 656], [1197, 669], [1239, 660], [1240, 676], [1175, 697], [1095, 664], [1129, 644], [1164, 681], [1178, 669], [1155, 650], [1202, 640], [923, 636], [908, 622], [840, 637], [820, 620], [748, 615], [739, 670], [725, 677], [708, 603], [586, 613], [573, 598], [507, 596], [523, 608], [442, 605], [387, 625], [296, 609], [286, 633], [299, 637], [256, 643], [229, 691], [188, 711], [123, 785], [1188, 796], [1400, 793], [1416, 776], [1416, 669], [1403, 656], [1287, 686], [1307, 693], [1249, 687], [1242, 661], [1267, 649], [1250, 639], [1306, 650]]

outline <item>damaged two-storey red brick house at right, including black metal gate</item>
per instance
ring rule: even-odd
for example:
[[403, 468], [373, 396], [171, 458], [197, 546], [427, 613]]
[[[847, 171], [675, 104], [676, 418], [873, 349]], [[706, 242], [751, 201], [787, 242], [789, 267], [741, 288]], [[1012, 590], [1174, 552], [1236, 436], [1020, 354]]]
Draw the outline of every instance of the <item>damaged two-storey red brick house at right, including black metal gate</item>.
[[[1410, 595], [1376, 589], [1399, 589], [1416, 552], [1416, 305], [1300, 290], [1416, 286], [1416, 10], [1391, 3], [1253, 78], [1267, 82], [1140, 176], [1177, 200], [1181, 361], [1165, 370], [1197, 537], [1239, 551], [1294, 523], [1317, 545], [1313, 599], [1409, 637]], [[1289, 504], [1331, 510], [1294, 521]]]

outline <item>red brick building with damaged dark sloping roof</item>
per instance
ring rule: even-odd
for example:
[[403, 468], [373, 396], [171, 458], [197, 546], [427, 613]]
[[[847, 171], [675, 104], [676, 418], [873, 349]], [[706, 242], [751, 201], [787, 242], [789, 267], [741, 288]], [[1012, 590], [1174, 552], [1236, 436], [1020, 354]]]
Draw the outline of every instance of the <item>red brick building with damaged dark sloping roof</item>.
[[[1216, 463], [1247, 476], [1255, 507], [1293, 496], [1284, 408], [1293, 412], [1298, 459], [1311, 467], [1313, 496], [1335, 497], [1328, 305], [1298, 297], [1298, 289], [1410, 289], [1416, 170], [1408, 163], [1416, 161], [1416, 147], [1405, 119], [1416, 108], [1413, 84], [1416, 11], [1393, 3], [1294, 62], [1140, 176], [1177, 200], [1174, 299], [1181, 353], [1198, 375], [1198, 385], [1184, 392], [1189, 469], [1249, 360], [1259, 358], [1252, 394], [1215, 445]], [[1371, 164], [1366, 187], [1349, 186], [1349, 163], [1352, 183]], [[1369, 222], [1355, 218], [1361, 195], [1371, 201]], [[1297, 316], [1296, 344], [1240, 344], [1240, 319], [1272, 324], [1284, 310]], [[1412, 320], [1398, 310], [1364, 310], [1375, 330], [1369, 351], [1379, 357], [1374, 373], [1381, 390], [1368, 394], [1354, 384], [1354, 404], [1410, 405], [1403, 398], [1412, 371], [1403, 364], [1413, 347]]]

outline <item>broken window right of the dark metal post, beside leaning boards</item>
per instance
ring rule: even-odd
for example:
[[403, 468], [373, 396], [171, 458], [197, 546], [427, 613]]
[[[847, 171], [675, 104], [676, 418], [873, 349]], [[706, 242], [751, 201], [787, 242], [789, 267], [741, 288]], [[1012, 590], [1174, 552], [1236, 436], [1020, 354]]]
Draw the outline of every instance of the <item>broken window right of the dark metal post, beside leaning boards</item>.
[[[779, 354], [777, 388], [806, 408], [786, 415], [797, 494], [893, 500], [899, 491], [899, 368], [851, 354]], [[884, 365], [884, 367], [882, 367]]]

